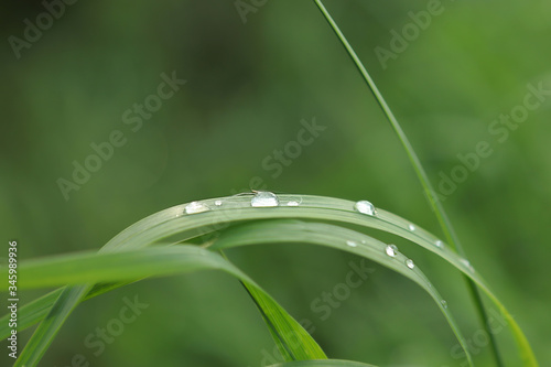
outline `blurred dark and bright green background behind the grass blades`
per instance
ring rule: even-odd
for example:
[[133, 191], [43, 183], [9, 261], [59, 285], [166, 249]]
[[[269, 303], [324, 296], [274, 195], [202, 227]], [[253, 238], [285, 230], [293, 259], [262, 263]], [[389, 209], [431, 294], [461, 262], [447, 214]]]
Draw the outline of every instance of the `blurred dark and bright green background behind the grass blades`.
[[[163, 208], [250, 188], [369, 199], [440, 234], [398, 139], [312, 1], [269, 0], [246, 23], [234, 1], [77, 1], [20, 50], [41, 1], [3, 1], [1, 14], [2, 241], [20, 260], [97, 249]], [[431, 2], [429, 2], [431, 3]], [[521, 105], [527, 84], [551, 89], [551, 2], [442, 1], [441, 13], [386, 68], [375, 48], [412, 23], [426, 1], [326, 0], [410, 137], [433, 183], [480, 141], [494, 149], [444, 206], [472, 263], [551, 360], [549, 244], [551, 100], [508, 139], [488, 126]], [[13, 40], [13, 39], [12, 39]], [[123, 112], [156, 93], [161, 74], [187, 83], [143, 120]], [[549, 97], [547, 97], [549, 98]], [[326, 129], [274, 177], [262, 166], [314, 119]], [[78, 191], [57, 180], [114, 130], [128, 139]], [[255, 179], [251, 187], [251, 179]], [[261, 181], [261, 184], [258, 182]], [[255, 187], [256, 186], [256, 187]], [[487, 341], [456, 271], [415, 246], [415, 259], [489, 365]], [[6, 253], [0, 255], [6, 260]], [[331, 357], [381, 366], [463, 366], [444, 317], [412, 282], [378, 267], [331, 315], [312, 302], [344, 282], [359, 259], [296, 245], [242, 248], [230, 258], [311, 331]], [[23, 303], [35, 292], [21, 295]], [[84, 341], [117, 317], [125, 298], [149, 304], [96, 356]], [[3, 301], [2, 301], [3, 302]], [[2, 303], [3, 304], [3, 303]], [[176, 322], [174, 322], [176, 320]], [[22, 341], [30, 332], [20, 334]], [[507, 358], [515, 349], [498, 334]], [[4, 344], [2, 344], [4, 345]], [[10, 361], [6, 348], [1, 358]], [[80, 305], [41, 366], [262, 366], [273, 343], [236, 280], [214, 272], [142, 281]], [[2, 361], [3, 364], [3, 361]], [[75, 364], [73, 364], [75, 365]]]

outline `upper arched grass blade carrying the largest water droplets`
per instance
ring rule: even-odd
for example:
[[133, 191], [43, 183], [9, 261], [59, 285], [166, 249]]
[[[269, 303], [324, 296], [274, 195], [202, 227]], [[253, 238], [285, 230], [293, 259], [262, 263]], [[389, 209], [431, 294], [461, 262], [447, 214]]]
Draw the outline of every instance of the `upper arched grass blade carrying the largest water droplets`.
[[[104, 250], [106, 248], [108, 248], [109, 251], [141, 248], [155, 241], [172, 238], [176, 235], [179, 236], [179, 240], [186, 240], [201, 235], [217, 233], [226, 228], [229, 224], [237, 222], [269, 218], [302, 218], [337, 222], [380, 229], [424, 247], [451, 262], [464, 273], [469, 274], [471, 272], [471, 269], [466, 266], [465, 259], [458, 258], [454, 251], [445, 244], [441, 242], [434, 235], [392, 213], [377, 209], [377, 215], [365, 215], [354, 209], [354, 202], [324, 196], [279, 195], [279, 199], [281, 206], [271, 208], [251, 207], [250, 196], [229, 196], [205, 199], [201, 203], [212, 209], [192, 215], [183, 215], [186, 206], [185, 204], [177, 205], [153, 214], [128, 227], [111, 239], [108, 245], [104, 247]], [[289, 202], [296, 201], [301, 202], [300, 206], [287, 205]], [[222, 202], [223, 205], [215, 204], [218, 202]], [[410, 229], [411, 225], [413, 225], [414, 230]], [[480, 283], [479, 285], [483, 287], [483, 290], [508, 321], [508, 325], [512, 331], [512, 335], [526, 361], [526, 366], [537, 366], [533, 353], [520, 327], [516, 324], [506, 307], [489, 291], [486, 284]], [[78, 303], [80, 301], [82, 300], [75, 302]]]

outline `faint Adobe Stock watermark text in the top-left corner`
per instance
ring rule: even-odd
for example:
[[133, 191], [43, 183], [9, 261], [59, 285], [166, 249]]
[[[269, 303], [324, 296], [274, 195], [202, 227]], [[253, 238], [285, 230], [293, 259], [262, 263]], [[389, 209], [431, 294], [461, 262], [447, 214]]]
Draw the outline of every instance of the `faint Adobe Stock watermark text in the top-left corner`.
[[46, 11], [41, 12], [36, 15], [34, 22], [29, 18], [23, 20], [25, 25], [23, 30], [23, 37], [18, 37], [15, 35], [10, 35], [8, 42], [10, 43], [13, 54], [19, 60], [21, 58], [21, 51], [23, 48], [31, 48], [31, 46], [42, 39], [43, 32], [50, 30], [54, 22], [65, 14], [66, 6], [73, 6], [77, 0], [52, 0], [42, 1], [42, 6]]

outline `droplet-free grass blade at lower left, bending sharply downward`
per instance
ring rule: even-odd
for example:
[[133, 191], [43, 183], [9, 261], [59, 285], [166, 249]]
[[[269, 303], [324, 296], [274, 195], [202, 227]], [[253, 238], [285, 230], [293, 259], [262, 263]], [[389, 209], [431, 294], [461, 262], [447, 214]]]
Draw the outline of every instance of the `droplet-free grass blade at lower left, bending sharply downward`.
[[[18, 285], [20, 289], [32, 289], [88, 282], [132, 281], [206, 269], [230, 273], [256, 293], [259, 309], [272, 326], [271, 332], [289, 353], [288, 360], [326, 358], [310, 334], [249, 277], [218, 253], [195, 246], [159, 247], [110, 253], [85, 252], [23, 261], [20, 263], [20, 271], [25, 277]], [[7, 270], [0, 271], [3, 272]], [[7, 287], [0, 287], [0, 290], [6, 289]], [[36, 357], [39, 356], [31, 355], [28, 363], [35, 364]]]

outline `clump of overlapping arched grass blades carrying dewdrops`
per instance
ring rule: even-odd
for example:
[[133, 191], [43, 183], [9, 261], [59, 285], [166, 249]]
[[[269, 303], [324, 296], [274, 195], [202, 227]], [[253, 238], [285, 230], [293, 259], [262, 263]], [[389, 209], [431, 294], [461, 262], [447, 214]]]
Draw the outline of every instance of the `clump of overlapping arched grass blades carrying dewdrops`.
[[[20, 288], [69, 287], [62, 291], [54, 304], [52, 301], [55, 296], [46, 295], [36, 301], [35, 305], [21, 310], [23, 320], [29, 317], [37, 321], [40, 319], [37, 315], [45, 309], [45, 305], [52, 304], [48, 315], [34, 333], [18, 363], [35, 365], [40, 360], [71, 311], [85, 299], [85, 295], [93, 290], [94, 284], [110, 284], [96, 288], [96, 291], [90, 292], [99, 294], [105, 290], [115, 289], [117, 285], [112, 285], [112, 283], [125, 284], [125, 282], [147, 277], [204, 269], [223, 270], [244, 282], [287, 360], [325, 357], [310, 335], [276, 301], [250, 278], [212, 251], [246, 245], [283, 242], [306, 242], [349, 251], [377, 261], [411, 279], [435, 301], [468, 356], [468, 347], [464, 344], [465, 338], [462, 336], [451, 311], [419, 267], [408, 267], [408, 258], [398, 250], [396, 250], [395, 256], [389, 256], [387, 244], [342, 227], [343, 225], [359, 225], [407, 238], [436, 253], [462, 271], [480, 287], [507, 317], [518, 341], [519, 352], [525, 356], [525, 363], [536, 365], [534, 359], [530, 359], [533, 358], [531, 357], [532, 352], [522, 332], [482, 277], [465, 259], [457, 256], [423, 228], [380, 208], [374, 215], [359, 213], [355, 208], [354, 202], [344, 199], [302, 195], [299, 206], [287, 206], [287, 203], [292, 202], [298, 195], [279, 195], [282, 205], [255, 207], [251, 206], [251, 197], [253, 194], [205, 199], [198, 203], [204, 209], [194, 214], [186, 214], [186, 207], [190, 204], [175, 206], [130, 226], [98, 253], [66, 255], [22, 262], [20, 271], [25, 277], [20, 281]], [[282, 218], [315, 222], [285, 222]], [[341, 223], [342, 225], [317, 223], [318, 220]], [[234, 225], [242, 222], [251, 222], [251, 224]], [[217, 237], [209, 237], [218, 228], [228, 224], [234, 226], [222, 230]], [[175, 240], [179, 245], [170, 247], [156, 245], [153, 248], [145, 248], [168, 239]], [[193, 242], [194, 239], [208, 239], [205, 242], [206, 248], [180, 245], [182, 241]], [[0, 277], [6, 277], [7, 272], [7, 268], [2, 269]], [[7, 285], [1, 289], [7, 290]], [[25, 322], [26, 325], [31, 323]], [[41, 328], [42, 325], [45, 326]], [[4, 325], [1, 333], [3, 335], [7, 334], [6, 327]]]

